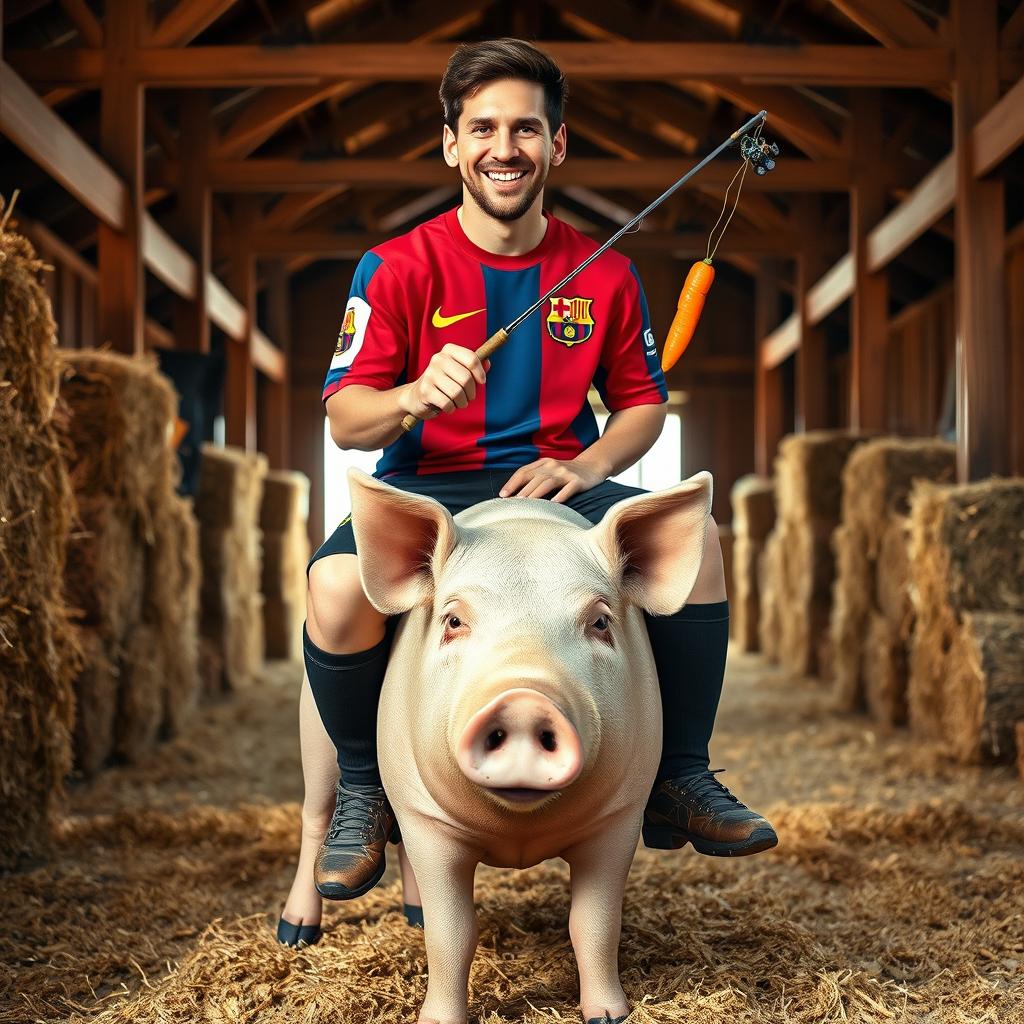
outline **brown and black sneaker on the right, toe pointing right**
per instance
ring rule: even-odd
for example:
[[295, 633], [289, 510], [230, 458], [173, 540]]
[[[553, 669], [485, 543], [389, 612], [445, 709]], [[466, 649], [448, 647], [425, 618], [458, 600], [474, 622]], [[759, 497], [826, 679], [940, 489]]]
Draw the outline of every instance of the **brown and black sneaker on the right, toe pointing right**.
[[654, 786], [643, 816], [644, 846], [679, 850], [693, 844], [713, 857], [746, 857], [778, 844], [775, 829], [715, 776], [723, 769], [670, 778]]

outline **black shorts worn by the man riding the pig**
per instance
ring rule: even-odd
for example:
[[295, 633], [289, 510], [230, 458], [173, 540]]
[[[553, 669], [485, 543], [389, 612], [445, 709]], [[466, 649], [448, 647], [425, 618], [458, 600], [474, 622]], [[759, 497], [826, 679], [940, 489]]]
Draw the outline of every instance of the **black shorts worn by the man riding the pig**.
[[[409, 490], [414, 495], [426, 495], [428, 498], [433, 498], [440, 502], [452, 515], [458, 515], [474, 505], [479, 505], [480, 502], [497, 498], [498, 492], [512, 476], [512, 472], [508, 469], [478, 469], [465, 473], [389, 476], [384, 482], [401, 490]], [[551, 494], [555, 495], [557, 490], [552, 490]], [[645, 494], [647, 492], [641, 487], [628, 487], [624, 483], [605, 480], [596, 487], [591, 487], [590, 490], [573, 495], [563, 504], [574, 512], [579, 512], [585, 519], [589, 519], [591, 522], [600, 522], [604, 513], [616, 502], [634, 495]], [[354, 554], [355, 534], [352, 531], [351, 516], [347, 516], [341, 525], [316, 549], [313, 557], [309, 559], [309, 565], [312, 565], [317, 558], [326, 558], [328, 555]], [[309, 571], [308, 565], [306, 571]]]

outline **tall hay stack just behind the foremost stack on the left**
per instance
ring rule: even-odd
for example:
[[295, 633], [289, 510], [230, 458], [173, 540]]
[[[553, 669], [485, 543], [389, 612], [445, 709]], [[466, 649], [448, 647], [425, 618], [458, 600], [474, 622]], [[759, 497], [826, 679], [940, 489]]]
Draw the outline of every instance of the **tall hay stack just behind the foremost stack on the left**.
[[115, 749], [134, 760], [162, 726], [166, 734], [180, 725], [199, 688], [195, 543], [170, 444], [177, 397], [153, 358], [86, 351], [62, 362], [82, 508], [69, 599], [86, 609], [106, 641], [105, 660], [119, 667]]

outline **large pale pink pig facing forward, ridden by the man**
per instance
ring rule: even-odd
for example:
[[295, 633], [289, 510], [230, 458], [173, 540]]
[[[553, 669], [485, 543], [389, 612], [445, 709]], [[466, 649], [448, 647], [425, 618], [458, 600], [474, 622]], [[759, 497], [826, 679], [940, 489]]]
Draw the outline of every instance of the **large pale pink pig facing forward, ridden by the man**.
[[349, 481], [364, 589], [403, 616], [378, 754], [411, 865], [406, 901], [423, 906], [420, 1024], [467, 1019], [476, 865], [550, 857], [569, 865], [583, 1016], [624, 1020], [623, 894], [662, 744], [642, 611], [685, 603], [711, 475], [628, 498], [596, 526], [541, 499], [453, 518], [357, 470]]

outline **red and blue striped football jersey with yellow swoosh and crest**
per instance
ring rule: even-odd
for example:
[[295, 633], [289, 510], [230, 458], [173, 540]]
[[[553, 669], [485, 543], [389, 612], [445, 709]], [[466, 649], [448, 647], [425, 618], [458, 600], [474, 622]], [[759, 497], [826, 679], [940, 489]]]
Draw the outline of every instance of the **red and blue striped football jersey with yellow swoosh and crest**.
[[[350, 384], [387, 390], [416, 380], [450, 342], [478, 348], [597, 248], [545, 216], [544, 241], [522, 256], [475, 246], [456, 210], [368, 252], [355, 269], [324, 400]], [[591, 384], [611, 412], [668, 400], [640, 279], [611, 250], [512, 333], [466, 409], [388, 445], [376, 475], [573, 459], [598, 438]]]

